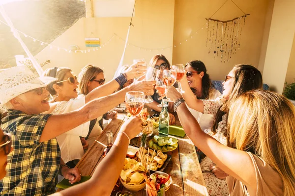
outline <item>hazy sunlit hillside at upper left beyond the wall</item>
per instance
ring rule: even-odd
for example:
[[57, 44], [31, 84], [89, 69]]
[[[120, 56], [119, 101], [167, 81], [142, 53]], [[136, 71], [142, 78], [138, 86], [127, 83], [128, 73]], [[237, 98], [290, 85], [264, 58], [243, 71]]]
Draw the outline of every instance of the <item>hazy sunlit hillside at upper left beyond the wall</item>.
[[[51, 43], [65, 30], [85, 17], [85, 2], [80, 0], [22, 0], [4, 4], [15, 28], [38, 40]], [[0, 20], [4, 21], [0, 15]], [[22, 37], [33, 55], [45, 46]], [[0, 69], [15, 65], [14, 55], [26, 55], [6, 25], [0, 25]]]

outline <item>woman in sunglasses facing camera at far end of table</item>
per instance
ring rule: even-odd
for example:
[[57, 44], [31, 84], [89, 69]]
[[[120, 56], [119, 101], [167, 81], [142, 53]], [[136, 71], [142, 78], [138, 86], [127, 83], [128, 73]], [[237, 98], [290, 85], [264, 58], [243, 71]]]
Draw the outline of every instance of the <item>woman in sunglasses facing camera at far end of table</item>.
[[[156, 68], [161, 71], [161, 73], [159, 75], [159, 79], [163, 78], [163, 71], [164, 70], [170, 70], [170, 63], [163, 54], [157, 54], [157, 55], [153, 56], [150, 59], [148, 66]], [[158, 104], [161, 103], [161, 100], [159, 100], [159, 98], [160, 98], [159, 94], [157, 94], [155, 92], [151, 97], [153, 99], [153, 102], [146, 103], [146, 105], [156, 112], [161, 112], [162, 108], [158, 107]], [[168, 111], [169, 111], [169, 121], [170, 121], [169, 124], [174, 124], [175, 123], [175, 116], [171, 113], [171, 112], [173, 112], [173, 103], [172, 102], [169, 102]]]

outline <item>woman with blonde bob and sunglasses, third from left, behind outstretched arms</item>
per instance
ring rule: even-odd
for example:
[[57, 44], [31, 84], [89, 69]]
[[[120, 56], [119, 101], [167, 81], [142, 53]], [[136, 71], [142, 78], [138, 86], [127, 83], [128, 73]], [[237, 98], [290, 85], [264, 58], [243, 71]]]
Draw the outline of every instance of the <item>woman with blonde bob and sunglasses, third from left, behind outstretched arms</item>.
[[[81, 93], [78, 98], [85, 97], [88, 95], [93, 89], [104, 85], [105, 77], [103, 74], [103, 70], [95, 65], [87, 65], [82, 68], [79, 73], [79, 92]], [[117, 112], [107, 112], [103, 116], [90, 121], [89, 132], [85, 138], [81, 138], [82, 144], [88, 144], [87, 146], [91, 146], [95, 141], [97, 136], [100, 135], [103, 129], [103, 119], [117, 119]], [[85, 141], [86, 140], [86, 141]], [[85, 147], [85, 145], [83, 145]], [[85, 148], [84, 148], [85, 149]]]

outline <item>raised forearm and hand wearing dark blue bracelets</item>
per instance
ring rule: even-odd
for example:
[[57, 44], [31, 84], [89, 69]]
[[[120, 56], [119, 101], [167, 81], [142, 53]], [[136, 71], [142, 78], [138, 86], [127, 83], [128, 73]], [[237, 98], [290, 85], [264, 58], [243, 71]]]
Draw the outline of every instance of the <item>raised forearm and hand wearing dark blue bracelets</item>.
[[[133, 79], [135, 77], [143, 75], [147, 67], [142, 66], [143, 62], [138, 62], [133, 65], [131, 65], [126, 71], [125, 71], [125, 76], [127, 77], [127, 80]], [[112, 79], [108, 83], [101, 85], [95, 89], [93, 89], [88, 95], [85, 96], [85, 101], [86, 103], [95, 99], [95, 98], [100, 98], [104, 96], [108, 96], [112, 94], [114, 91], [116, 91], [119, 88], [119, 84], [115, 79]]]

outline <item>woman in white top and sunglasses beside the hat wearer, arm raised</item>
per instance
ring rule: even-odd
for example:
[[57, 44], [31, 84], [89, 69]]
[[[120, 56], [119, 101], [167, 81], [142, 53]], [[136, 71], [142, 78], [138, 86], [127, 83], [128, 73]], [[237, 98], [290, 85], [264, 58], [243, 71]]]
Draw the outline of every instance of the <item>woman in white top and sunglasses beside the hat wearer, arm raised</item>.
[[[58, 78], [57, 82], [53, 82], [47, 86], [47, 90], [53, 97], [51, 101], [51, 110], [48, 111], [48, 113], [68, 113], [79, 109], [94, 98], [111, 95], [119, 86], [127, 81], [127, 78], [133, 79], [145, 73], [146, 68], [141, 66], [141, 63], [142, 62], [133, 64], [125, 73], [120, 74], [117, 78], [105, 85], [92, 89], [87, 95], [81, 97], [78, 97], [77, 89], [79, 82], [77, 77], [69, 68], [60, 67], [47, 69], [44, 73], [45, 76]], [[94, 82], [97, 83], [96, 81], [90, 83]], [[89, 126], [90, 122], [81, 124], [73, 130], [57, 137], [61, 158], [71, 168], [75, 167], [78, 160], [84, 155], [84, 150], [88, 147], [87, 141], [85, 139], [80, 139], [80, 137], [85, 138], [89, 135]]]

